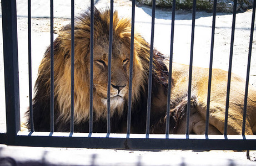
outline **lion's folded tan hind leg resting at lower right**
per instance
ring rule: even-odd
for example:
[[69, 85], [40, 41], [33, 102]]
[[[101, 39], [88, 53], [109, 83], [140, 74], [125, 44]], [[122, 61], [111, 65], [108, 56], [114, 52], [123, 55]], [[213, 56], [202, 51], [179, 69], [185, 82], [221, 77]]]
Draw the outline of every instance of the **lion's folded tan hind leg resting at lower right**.
[[[206, 116], [206, 105], [205, 102], [192, 100], [194, 103], [191, 106], [190, 116], [189, 116], [189, 133], [204, 134], [205, 133], [205, 116]], [[179, 103], [177, 106], [178, 112], [182, 112], [187, 105], [186, 99]], [[212, 102], [210, 105], [210, 115], [209, 115], [209, 128], [208, 134], [223, 134], [224, 133], [224, 121], [225, 121], [225, 105], [219, 104], [218, 102]], [[242, 134], [242, 122], [243, 118], [240, 110], [229, 109], [228, 115], [228, 125], [227, 134], [237, 135]], [[172, 113], [172, 112], [170, 112]], [[175, 128], [176, 134], [184, 134], [186, 131], [186, 118], [183, 117], [179, 122], [177, 128]], [[245, 123], [245, 134], [253, 134], [252, 128], [249, 126], [248, 121]]]

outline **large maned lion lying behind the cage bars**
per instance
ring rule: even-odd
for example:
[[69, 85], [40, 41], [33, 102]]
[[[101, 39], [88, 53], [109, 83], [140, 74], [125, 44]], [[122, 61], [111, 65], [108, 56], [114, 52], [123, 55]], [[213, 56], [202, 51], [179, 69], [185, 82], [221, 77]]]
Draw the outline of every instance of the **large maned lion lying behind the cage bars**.
[[[128, 18], [113, 14], [113, 46], [111, 63], [111, 132], [126, 133], [130, 35]], [[76, 18], [74, 24], [74, 132], [89, 130], [90, 81], [90, 10]], [[107, 85], [110, 11], [94, 9], [93, 46], [93, 132], [107, 132]], [[71, 118], [71, 24], [64, 26], [54, 40], [54, 131], [69, 132]], [[35, 131], [50, 131], [51, 64], [47, 48], [35, 84], [33, 119]], [[188, 100], [189, 66], [173, 63], [172, 79], [168, 82], [168, 59], [153, 50], [152, 102], [150, 133], [165, 133], [168, 84], [170, 94], [170, 133], [184, 134]], [[131, 133], [145, 133], [150, 44], [134, 34]], [[204, 134], [207, 108], [208, 69], [193, 67], [190, 99], [190, 134]], [[223, 134], [227, 71], [213, 69], [210, 97], [209, 134]], [[228, 134], [241, 134], [245, 81], [232, 74], [229, 98]], [[30, 128], [29, 111], [26, 114]], [[245, 134], [256, 134], [256, 90], [249, 86]]]

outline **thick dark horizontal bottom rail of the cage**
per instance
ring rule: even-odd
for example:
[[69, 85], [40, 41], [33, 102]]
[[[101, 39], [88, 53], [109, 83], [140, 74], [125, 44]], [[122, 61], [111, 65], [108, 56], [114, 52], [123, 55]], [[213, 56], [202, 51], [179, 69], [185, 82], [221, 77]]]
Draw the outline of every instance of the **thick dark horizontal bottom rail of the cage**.
[[[49, 134], [49, 133], [48, 133]], [[19, 146], [39, 146], [39, 147], [72, 147], [72, 148], [107, 148], [107, 149], [193, 149], [193, 150], [255, 150], [256, 139], [255, 136], [249, 137], [241, 135], [228, 136], [225, 139], [223, 135], [209, 136], [205, 139], [204, 136], [192, 136], [186, 139], [184, 135], [172, 135], [166, 139], [163, 134], [150, 134], [149, 138], [145, 138], [144, 134], [94, 134], [91, 137], [83, 137], [85, 133], [72, 137], [63, 137], [59, 133], [48, 137], [48, 134], [36, 136], [18, 136], [17, 144]], [[69, 133], [67, 133], [69, 134]], [[88, 133], [87, 133], [88, 134]]]

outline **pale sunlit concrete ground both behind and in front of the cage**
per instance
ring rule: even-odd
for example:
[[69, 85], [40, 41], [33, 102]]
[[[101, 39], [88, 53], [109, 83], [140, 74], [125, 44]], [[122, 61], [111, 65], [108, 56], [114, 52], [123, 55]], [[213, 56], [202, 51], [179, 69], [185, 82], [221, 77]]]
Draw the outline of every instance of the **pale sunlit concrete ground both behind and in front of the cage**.
[[[109, 0], [96, 0], [97, 8], [109, 6]], [[78, 15], [89, 6], [89, 1], [76, 0], [75, 13]], [[71, 20], [70, 2], [54, 1], [54, 30], [56, 33], [63, 25]], [[130, 17], [132, 3], [129, 0], [116, 1], [116, 9], [122, 17]], [[50, 24], [49, 24], [49, 1], [32, 1], [32, 79], [36, 80], [38, 65], [42, 59], [46, 47], [50, 43]], [[155, 33], [154, 47], [169, 56], [170, 49], [170, 24], [172, 11], [170, 9], [157, 8], [155, 13]], [[252, 22], [252, 10], [238, 13], [236, 18], [234, 54], [232, 71], [245, 78], [248, 59], [250, 24]], [[2, 22], [0, 22], [2, 24]], [[28, 101], [28, 42], [27, 42], [27, 2], [17, 0], [17, 24], [18, 24], [18, 54], [19, 54], [19, 87], [21, 100], [21, 115], [27, 110]], [[176, 11], [174, 28], [174, 50], [173, 61], [189, 64], [190, 39], [191, 39], [191, 11]], [[214, 68], [228, 70], [230, 53], [230, 35], [232, 26], [232, 14], [217, 13], [215, 43], [214, 43]], [[150, 42], [151, 27], [151, 8], [137, 4], [135, 8], [135, 29]], [[255, 24], [254, 24], [254, 27]], [[0, 25], [2, 28], [2, 25]], [[193, 65], [209, 67], [210, 40], [212, 31], [212, 13], [197, 12], [195, 20], [195, 40], [194, 40], [194, 59]], [[2, 32], [2, 29], [0, 29]], [[2, 33], [0, 33], [2, 38]], [[55, 37], [57, 34], [55, 34]], [[254, 30], [252, 62], [250, 69], [250, 84], [256, 86], [256, 34]], [[4, 101], [4, 75], [3, 75], [3, 50], [2, 40], [0, 41], [0, 132], [6, 132], [5, 101]], [[102, 160], [108, 160], [105, 165], [113, 162], [117, 165], [256, 165], [250, 162], [245, 152], [191, 152], [191, 151], [116, 151], [99, 149], [59, 149], [59, 148], [20, 148], [6, 147], [0, 148], [0, 157], [21, 155], [22, 158], [29, 158], [25, 152], [40, 152], [38, 161], [48, 164], [51, 156], [58, 156], [61, 152], [63, 157], [56, 157], [57, 162], [64, 162], [66, 165], [104, 165]], [[15, 152], [15, 153], [14, 153]], [[13, 154], [12, 154], [13, 153]], [[33, 153], [32, 153], [33, 154]], [[107, 154], [107, 155], [106, 155]], [[71, 156], [65, 158], [64, 156]], [[125, 156], [121, 164], [119, 155]], [[255, 160], [255, 153], [250, 159]], [[84, 163], [76, 163], [76, 159], [82, 159]], [[161, 158], [157, 159], [156, 158]], [[123, 159], [123, 158], [122, 158]], [[22, 159], [21, 159], [22, 160]], [[215, 161], [215, 162], [214, 162]], [[101, 162], [99, 164], [98, 162]], [[156, 163], [157, 162], [157, 163]], [[55, 163], [55, 164], [56, 164]], [[86, 164], [88, 163], [88, 164]], [[90, 164], [91, 163], [91, 164]], [[206, 163], [206, 164], [205, 164]], [[53, 164], [53, 163], [52, 163]], [[0, 160], [1, 165], [1, 160]], [[57, 164], [58, 165], [58, 164]]]

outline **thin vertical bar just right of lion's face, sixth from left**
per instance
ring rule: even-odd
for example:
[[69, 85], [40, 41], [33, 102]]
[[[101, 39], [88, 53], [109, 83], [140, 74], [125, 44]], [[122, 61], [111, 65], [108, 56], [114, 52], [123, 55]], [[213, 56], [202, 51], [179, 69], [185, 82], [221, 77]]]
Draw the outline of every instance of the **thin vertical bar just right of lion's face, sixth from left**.
[[129, 98], [127, 114], [127, 134], [130, 134], [130, 115], [132, 110], [132, 79], [133, 79], [133, 50], [134, 50], [134, 22], [135, 22], [135, 0], [132, 1], [132, 29], [130, 32], [130, 68], [129, 68]]

